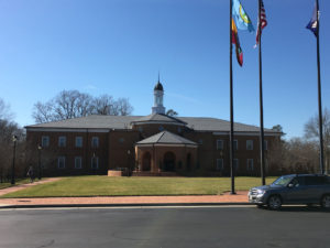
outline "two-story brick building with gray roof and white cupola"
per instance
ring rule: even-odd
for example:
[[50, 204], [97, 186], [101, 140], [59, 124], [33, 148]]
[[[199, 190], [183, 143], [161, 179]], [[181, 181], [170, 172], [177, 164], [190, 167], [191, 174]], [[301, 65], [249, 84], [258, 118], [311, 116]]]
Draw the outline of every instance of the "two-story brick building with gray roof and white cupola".
[[[91, 115], [28, 126], [31, 158], [37, 158], [40, 145], [44, 175], [107, 174], [120, 169], [135, 174], [229, 175], [230, 122], [166, 116], [163, 96], [158, 82], [148, 116]], [[260, 173], [258, 131], [254, 126], [234, 123], [239, 175]], [[280, 134], [265, 129], [266, 155]]]

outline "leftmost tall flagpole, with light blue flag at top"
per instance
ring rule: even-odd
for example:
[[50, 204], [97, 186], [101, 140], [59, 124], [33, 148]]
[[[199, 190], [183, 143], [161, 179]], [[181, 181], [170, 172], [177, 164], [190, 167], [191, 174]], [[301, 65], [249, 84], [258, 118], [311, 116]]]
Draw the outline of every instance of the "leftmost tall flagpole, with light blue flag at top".
[[235, 194], [235, 181], [233, 170], [233, 87], [232, 87], [232, 0], [229, 0], [229, 61], [230, 61], [230, 138], [229, 138], [229, 159], [230, 159], [230, 176], [231, 176], [231, 194]]

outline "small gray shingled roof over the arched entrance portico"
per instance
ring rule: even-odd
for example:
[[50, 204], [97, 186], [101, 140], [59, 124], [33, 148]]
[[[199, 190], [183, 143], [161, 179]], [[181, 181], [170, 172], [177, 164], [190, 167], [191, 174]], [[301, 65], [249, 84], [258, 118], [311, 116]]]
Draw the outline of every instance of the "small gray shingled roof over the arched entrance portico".
[[191, 140], [187, 140], [180, 136], [174, 134], [168, 131], [162, 131], [157, 134], [148, 137], [144, 140], [139, 141], [136, 144], [193, 144], [197, 145]]

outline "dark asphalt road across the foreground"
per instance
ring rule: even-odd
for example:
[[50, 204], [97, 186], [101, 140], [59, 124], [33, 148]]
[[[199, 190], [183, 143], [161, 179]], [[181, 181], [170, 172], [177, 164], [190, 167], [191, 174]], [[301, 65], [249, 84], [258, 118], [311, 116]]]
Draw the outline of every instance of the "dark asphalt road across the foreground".
[[330, 212], [285, 207], [0, 209], [1, 248], [321, 248]]

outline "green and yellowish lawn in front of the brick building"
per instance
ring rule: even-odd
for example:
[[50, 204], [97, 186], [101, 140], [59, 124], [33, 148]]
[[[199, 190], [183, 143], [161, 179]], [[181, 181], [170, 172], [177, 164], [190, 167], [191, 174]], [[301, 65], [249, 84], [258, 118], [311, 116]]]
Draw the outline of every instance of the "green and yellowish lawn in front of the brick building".
[[[267, 177], [267, 184], [275, 177]], [[260, 177], [237, 177], [235, 190], [261, 184]], [[75, 176], [32, 186], [1, 197], [219, 195], [230, 191], [230, 177], [109, 177]]]

